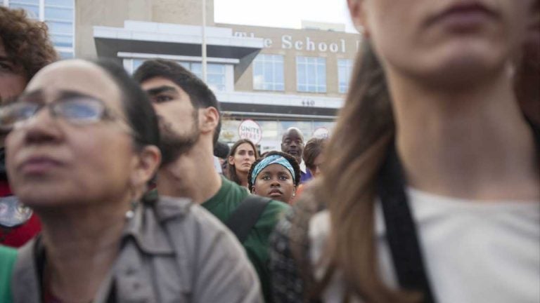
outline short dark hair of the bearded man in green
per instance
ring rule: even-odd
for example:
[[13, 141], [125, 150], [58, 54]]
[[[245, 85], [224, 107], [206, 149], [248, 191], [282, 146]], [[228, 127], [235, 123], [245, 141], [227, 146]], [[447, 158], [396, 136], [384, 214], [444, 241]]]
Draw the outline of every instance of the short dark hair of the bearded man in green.
[[[133, 77], [139, 83], [157, 77], [169, 79], [189, 95], [195, 109], [214, 107], [219, 112], [219, 102], [212, 90], [195, 74], [177, 62], [165, 59], [148, 60], [143, 62]], [[217, 143], [220, 131], [221, 119], [214, 131], [214, 145]]]

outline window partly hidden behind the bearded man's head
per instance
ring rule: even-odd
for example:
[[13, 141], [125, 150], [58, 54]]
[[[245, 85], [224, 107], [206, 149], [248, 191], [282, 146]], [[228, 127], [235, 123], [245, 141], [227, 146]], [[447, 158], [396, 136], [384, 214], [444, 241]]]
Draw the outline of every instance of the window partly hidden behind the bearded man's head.
[[[124, 59], [124, 67], [128, 72], [134, 73], [144, 61], [148, 59]], [[203, 78], [203, 64], [200, 62], [176, 61], [190, 72]], [[207, 85], [214, 91], [226, 90], [226, 65], [217, 63], [207, 63], [206, 65]]]

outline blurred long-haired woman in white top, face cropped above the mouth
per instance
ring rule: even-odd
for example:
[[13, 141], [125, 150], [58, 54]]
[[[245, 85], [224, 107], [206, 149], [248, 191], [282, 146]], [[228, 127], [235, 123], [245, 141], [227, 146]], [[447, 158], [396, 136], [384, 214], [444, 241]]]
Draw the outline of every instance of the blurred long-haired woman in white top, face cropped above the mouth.
[[364, 49], [274, 237], [277, 300], [540, 301], [540, 135], [513, 90], [538, 8], [349, 0]]

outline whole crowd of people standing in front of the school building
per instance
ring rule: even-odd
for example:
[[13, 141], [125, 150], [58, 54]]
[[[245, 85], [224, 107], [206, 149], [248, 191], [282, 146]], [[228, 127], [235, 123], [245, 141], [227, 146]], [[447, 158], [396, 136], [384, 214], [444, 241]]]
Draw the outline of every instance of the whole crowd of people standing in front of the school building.
[[540, 1], [347, 4], [333, 134], [264, 154], [0, 6], [0, 302], [540, 302]]

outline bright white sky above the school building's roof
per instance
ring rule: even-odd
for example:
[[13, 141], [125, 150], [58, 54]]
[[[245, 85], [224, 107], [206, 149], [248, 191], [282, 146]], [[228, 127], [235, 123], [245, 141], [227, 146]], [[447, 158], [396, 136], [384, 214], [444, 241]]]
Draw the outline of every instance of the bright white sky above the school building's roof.
[[302, 20], [342, 23], [356, 32], [346, 0], [214, 0], [217, 23], [299, 29]]

